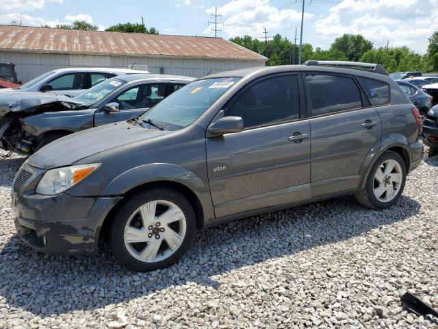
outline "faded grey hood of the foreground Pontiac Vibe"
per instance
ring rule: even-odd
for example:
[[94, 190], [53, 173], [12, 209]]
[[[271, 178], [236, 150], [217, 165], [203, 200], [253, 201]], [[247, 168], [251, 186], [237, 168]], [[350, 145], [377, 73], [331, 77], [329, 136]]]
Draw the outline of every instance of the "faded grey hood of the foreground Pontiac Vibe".
[[69, 166], [96, 153], [168, 133], [125, 121], [111, 123], [60, 138], [36, 152], [27, 163], [42, 169]]

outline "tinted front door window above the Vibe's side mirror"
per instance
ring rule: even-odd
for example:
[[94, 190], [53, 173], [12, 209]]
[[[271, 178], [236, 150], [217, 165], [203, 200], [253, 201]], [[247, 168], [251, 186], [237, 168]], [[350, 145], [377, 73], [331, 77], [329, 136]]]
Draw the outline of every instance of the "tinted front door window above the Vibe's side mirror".
[[241, 117], [245, 128], [298, 119], [298, 76], [281, 75], [255, 82], [231, 101], [225, 115]]

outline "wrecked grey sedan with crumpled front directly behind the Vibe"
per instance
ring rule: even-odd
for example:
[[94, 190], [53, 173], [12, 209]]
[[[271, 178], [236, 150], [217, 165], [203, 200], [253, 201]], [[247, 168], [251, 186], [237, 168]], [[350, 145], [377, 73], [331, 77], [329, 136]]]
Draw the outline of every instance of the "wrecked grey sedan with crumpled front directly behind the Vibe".
[[192, 80], [133, 74], [112, 77], [73, 98], [50, 93], [0, 94], [0, 146], [33, 154], [68, 134], [137, 117]]

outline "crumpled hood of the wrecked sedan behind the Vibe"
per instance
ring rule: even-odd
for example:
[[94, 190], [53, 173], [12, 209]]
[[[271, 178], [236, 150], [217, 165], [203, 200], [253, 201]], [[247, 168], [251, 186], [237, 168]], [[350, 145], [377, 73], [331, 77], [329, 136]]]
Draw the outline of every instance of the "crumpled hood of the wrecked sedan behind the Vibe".
[[39, 106], [45, 106], [50, 103], [63, 103], [70, 108], [70, 104], [81, 104], [66, 95], [57, 95], [52, 93], [0, 93], [0, 116], [8, 112], [33, 112], [38, 110]]

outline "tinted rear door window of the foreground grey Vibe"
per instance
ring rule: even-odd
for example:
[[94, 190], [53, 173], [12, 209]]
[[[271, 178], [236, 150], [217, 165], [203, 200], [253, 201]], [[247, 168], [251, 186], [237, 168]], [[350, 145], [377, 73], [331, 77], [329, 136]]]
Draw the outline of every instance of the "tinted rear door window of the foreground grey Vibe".
[[361, 91], [352, 77], [306, 74], [306, 80], [313, 117], [362, 107]]

